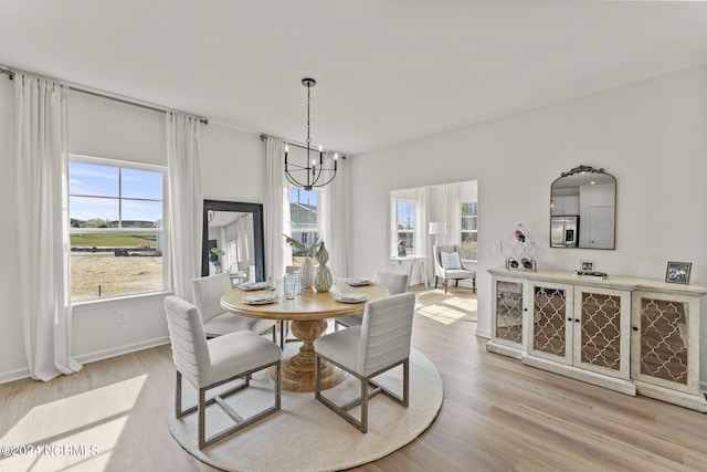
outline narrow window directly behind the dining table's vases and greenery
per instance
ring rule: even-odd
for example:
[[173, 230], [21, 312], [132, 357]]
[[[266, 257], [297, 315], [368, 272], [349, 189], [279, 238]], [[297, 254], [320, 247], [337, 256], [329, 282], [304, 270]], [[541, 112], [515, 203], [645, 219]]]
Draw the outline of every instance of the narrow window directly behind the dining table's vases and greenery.
[[[309, 248], [319, 238], [319, 191], [289, 189], [292, 238]], [[292, 248], [293, 264], [304, 262], [302, 251]]]

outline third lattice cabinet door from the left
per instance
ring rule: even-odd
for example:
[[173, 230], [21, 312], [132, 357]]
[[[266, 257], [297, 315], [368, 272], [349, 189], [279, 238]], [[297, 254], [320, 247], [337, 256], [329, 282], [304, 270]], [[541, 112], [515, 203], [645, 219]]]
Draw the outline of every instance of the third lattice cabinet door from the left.
[[573, 314], [573, 365], [629, 379], [631, 292], [577, 285]]

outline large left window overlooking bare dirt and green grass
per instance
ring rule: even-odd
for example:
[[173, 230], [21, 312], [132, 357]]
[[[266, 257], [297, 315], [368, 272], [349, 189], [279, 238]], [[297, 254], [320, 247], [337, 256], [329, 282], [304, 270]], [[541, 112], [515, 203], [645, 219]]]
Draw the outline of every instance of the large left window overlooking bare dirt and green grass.
[[73, 300], [165, 287], [163, 169], [71, 156], [71, 294]]

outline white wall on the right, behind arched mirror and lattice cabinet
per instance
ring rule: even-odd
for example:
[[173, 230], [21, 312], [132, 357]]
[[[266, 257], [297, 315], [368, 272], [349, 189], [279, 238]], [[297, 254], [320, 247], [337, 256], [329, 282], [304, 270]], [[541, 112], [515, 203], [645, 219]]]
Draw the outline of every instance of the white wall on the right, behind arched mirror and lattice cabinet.
[[[386, 232], [374, 229], [388, 228], [390, 190], [477, 180], [479, 335], [488, 336], [490, 324], [486, 270], [504, 263], [494, 241], [518, 223], [539, 241], [541, 270], [592, 260], [609, 274], [663, 280], [668, 260], [690, 261], [690, 283], [707, 285], [706, 156], [707, 67], [358, 155], [351, 181], [366, 185], [351, 186], [352, 271], [387, 263]], [[618, 179], [615, 251], [549, 248], [550, 185], [580, 164]], [[701, 338], [705, 381], [707, 323]]]

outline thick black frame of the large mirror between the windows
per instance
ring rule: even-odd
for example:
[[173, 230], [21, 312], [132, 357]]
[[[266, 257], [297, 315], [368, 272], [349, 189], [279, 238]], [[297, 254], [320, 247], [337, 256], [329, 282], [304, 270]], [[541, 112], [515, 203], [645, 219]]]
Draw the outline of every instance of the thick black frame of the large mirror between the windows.
[[203, 232], [201, 235], [201, 276], [209, 275], [209, 211], [235, 211], [253, 214], [253, 249], [255, 254], [255, 281], [265, 280], [265, 242], [263, 231], [263, 203], [243, 201], [204, 200]]

